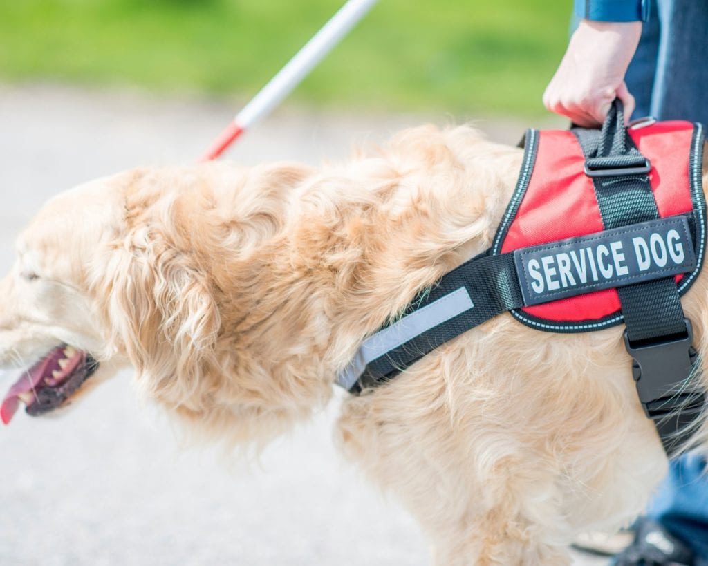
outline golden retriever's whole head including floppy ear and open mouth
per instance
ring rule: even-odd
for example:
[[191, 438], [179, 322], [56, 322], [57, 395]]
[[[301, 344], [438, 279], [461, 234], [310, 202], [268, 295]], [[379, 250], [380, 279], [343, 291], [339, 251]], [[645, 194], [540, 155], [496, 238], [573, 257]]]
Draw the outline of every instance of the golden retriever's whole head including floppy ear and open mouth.
[[205, 276], [158, 218], [178, 214], [174, 202], [156, 210], [164, 191], [134, 190], [142, 176], [58, 195], [18, 238], [0, 282], [0, 364], [20, 371], [1, 403], [5, 423], [21, 403], [30, 415], [68, 405], [123, 360], [158, 381], [169, 376], [169, 385], [151, 381], [169, 396], [215, 340]]

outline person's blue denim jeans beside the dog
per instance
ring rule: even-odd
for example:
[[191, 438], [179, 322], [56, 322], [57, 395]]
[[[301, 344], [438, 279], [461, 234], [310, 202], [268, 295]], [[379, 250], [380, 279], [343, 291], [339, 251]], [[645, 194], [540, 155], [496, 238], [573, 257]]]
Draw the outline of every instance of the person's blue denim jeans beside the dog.
[[[708, 125], [708, 1], [652, 0], [626, 81], [634, 117]], [[687, 454], [670, 463], [647, 515], [708, 560], [708, 475]]]

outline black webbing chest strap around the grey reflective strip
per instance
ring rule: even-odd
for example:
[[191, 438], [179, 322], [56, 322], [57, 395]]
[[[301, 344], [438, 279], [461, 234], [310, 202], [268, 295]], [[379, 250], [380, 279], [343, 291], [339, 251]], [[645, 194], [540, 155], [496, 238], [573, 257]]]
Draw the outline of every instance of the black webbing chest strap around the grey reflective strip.
[[362, 388], [387, 381], [448, 340], [503, 312], [523, 306], [513, 253], [483, 254], [447, 273], [430, 291], [418, 296], [402, 316], [418, 311], [462, 287], [467, 289], [473, 308], [370, 362], [350, 391], [357, 393]]

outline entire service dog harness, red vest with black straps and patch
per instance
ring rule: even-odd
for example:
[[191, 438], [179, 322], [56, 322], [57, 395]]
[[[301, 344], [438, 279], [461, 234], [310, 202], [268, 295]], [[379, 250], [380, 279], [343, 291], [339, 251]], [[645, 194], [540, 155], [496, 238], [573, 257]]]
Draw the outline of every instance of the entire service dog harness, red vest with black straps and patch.
[[[553, 332], [600, 330], [624, 321], [647, 416], [668, 452], [685, 440], [704, 405], [702, 391], [688, 380], [697, 356], [679, 298], [704, 258], [702, 129], [676, 122], [675, 131], [690, 145], [683, 154], [675, 139], [653, 137], [664, 125], [638, 137], [649, 154], [658, 144], [654, 161], [661, 164], [661, 156], [670, 154], [666, 141], [678, 151], [673, 161], [685, 161], [685, 182], [667, 189], [656, 183], [671, 180], [671, 170], [662, 167], [661, 178], [647, 175], [652, 165], [623, 120], [616, 104], [602, 131], [543, 132], [549, 141], [539, 144], [543, 135], [531, 130], [519, 183], [493, 246], [442, 277], [401, 318], [367, 338], [338, 383], [352, 393], [385, 383], [447, 340], [506, 311]], [[558, 157], [555, 138], [564, 147], [574, 145], [576, 155]], [[544, 169], [557, 172], [567, 163], [571, 173], [562, 183], [544, 179]], [[564, 219], [569, 211], [582, 214], [559, 222], [544, 209], [557, 203], [566, 207]], [[537, 219], [542, 223], [534, 233], [529, 227]], [[569, 231], [571, 237], [549, 236]]]

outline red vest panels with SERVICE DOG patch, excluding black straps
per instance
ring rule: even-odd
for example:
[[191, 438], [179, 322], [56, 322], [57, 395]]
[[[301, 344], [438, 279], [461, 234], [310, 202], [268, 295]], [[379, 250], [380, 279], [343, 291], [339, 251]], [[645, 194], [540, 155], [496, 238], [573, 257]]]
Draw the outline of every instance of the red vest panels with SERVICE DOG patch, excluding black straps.
[[[524, 294], [525, 306], [510, 311], [515, 318], [539, 330], [600, 330], [622, 322], [619, 296], [613, 288], [617, 284], [671, 270], [683, 274], [690, 267], [685, 275], [676, 275], [680, 294], [690, 287], [702, 265], [705, 244], [700, 128], [678, 121], [629, 128], [636, 148], [651, 163], [648, 176], [658, 215], [661, 219], [677, 216], [675, 226], [657, 231], [649, 226], [644, 235], [632, 233], [624, 240], [610, 237], [597, 246], [542, 255], [531, 270], [528, 263], [519, 265], [522, 291], [530, 292]], [[527, 132], [520, 177], [494, 239], [493, 253], [603, 233], [598, 197], [593, 178], [584, 171], [585, 161], [572, 132]], [[695, 237], [685, 231], [689, 220]], [[617, 246], [617, 241], [624, 245]], [[630, 262], [638, 268], [634, 272]], [[623, 281], [623, 275], [629, 279]], [[587, 292], [563, 298], [564, 291], [579, 290], [581, 279]], [[554, 296], [558, 298], [549, 301]]]

